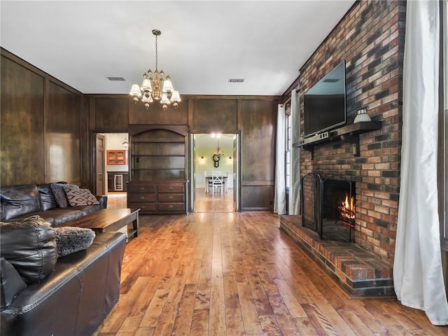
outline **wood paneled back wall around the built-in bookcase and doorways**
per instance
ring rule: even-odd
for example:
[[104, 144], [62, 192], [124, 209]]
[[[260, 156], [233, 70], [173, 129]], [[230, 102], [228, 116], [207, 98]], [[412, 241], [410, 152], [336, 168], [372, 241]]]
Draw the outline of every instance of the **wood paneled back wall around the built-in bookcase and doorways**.
[[241, 211], [274, 209], [276, 111], [279, 97], [187, 96], [177, 109], [149, 109], [127, 95], [89, 95], [90, 130], [123, 132], [129, 125], [188, 125], [189, 132], [241, 134]]

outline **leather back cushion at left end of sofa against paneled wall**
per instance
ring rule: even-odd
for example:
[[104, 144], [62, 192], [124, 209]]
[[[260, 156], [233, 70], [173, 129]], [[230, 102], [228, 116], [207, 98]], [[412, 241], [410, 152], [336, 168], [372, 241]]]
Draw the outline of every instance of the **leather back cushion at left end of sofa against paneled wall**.
[[34, 184], [0, 189], [1, 221], [39, 211], [40, 197]]

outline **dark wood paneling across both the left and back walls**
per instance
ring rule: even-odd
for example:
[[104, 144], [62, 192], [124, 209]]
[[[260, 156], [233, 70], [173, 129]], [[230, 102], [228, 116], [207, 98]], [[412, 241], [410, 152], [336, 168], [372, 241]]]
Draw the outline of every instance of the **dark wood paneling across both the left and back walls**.
[[177, 109], [82, 94], [1, 49], [1, 185], [68, 181], [94, 190], [94, 133], [187, 125], [241, 134], [241, 210], [272, 211], [279, 97], [187, 96]]

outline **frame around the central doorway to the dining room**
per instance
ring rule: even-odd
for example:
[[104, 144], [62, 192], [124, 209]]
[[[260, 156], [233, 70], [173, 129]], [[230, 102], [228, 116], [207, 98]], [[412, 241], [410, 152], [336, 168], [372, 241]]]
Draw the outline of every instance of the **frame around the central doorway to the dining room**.
[[[189, 162], [189, 170], [190, 170], [190, 204], [188, 204], [188, 210], [190, 212], [195, 211], [195, 200], [196, 200], [196, 176], [195, 176], [195, 170], [196, 170], [196, 142], [195, 142], [195, 135], [196, 134], [211, 134], [213, 132], [211, 131], [202, 131], [202, 132], [190, 132], [190, 141], [188, 141], [188, 153], [190, 153], [190, 162]], [[233, 146], [233, 206], [234, 211], [239, 212], [241, 209], [241, 144], [239, 143], [241, 137], [239, 132], [228, 132], [223, 131], [223, 134], [233, 134], [234, 136], [234, 146]], [[236, 144], [236, 146], [235, 146]]]

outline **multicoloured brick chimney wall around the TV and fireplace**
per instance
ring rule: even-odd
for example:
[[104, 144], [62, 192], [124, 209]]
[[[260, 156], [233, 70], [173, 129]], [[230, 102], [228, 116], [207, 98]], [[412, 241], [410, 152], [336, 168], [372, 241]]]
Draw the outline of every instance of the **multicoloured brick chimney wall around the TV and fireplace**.
[[356, 181], [356, 243], [388, 261], [395, 250], [400, 192], [405, 10], [405, 1], [359, 1], [300, 69], [299, 78], [303, 111], [304, 92], [345, 59], [347, 123], [360, 108], [382, 122], [381, 130], [360, 134], [358, 157], [341, 140], [314, 146], [312, 160], [302, 149], [300, 174]]

